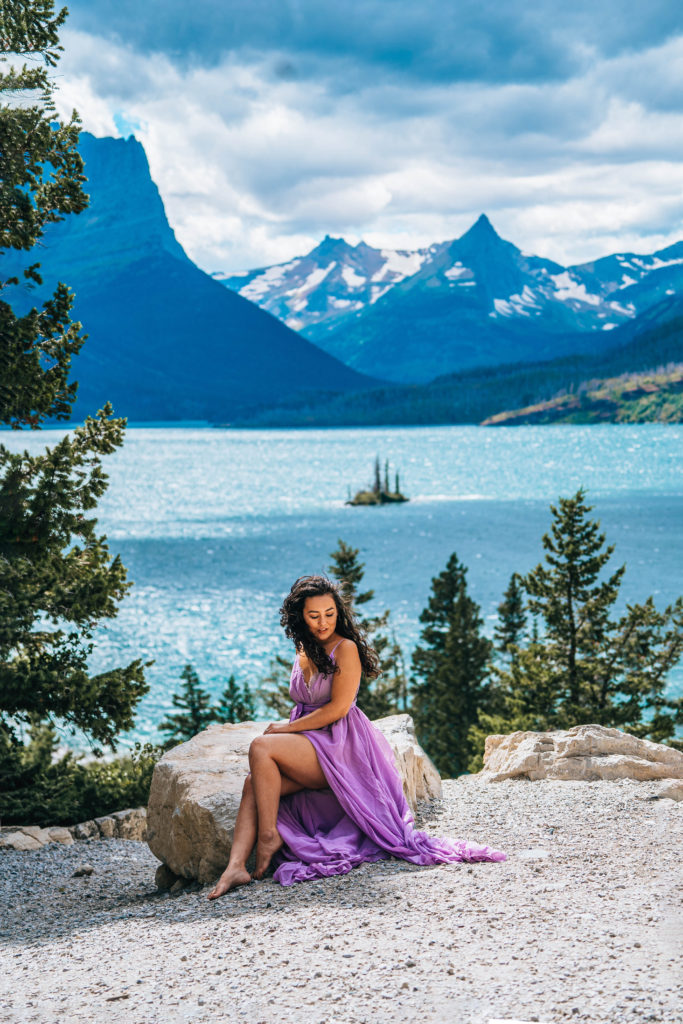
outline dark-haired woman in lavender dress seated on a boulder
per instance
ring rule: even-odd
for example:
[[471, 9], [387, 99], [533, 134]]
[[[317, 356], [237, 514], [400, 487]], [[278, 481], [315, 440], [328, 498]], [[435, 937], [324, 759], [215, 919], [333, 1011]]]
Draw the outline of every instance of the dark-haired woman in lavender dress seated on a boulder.
[[283, 885], [349, 871], [367, 860], [399, 857], [414, 864], [505, 860], [487, 846], [431, 839], [413, 827], [393, 753], [359, 708], [364, 672], [379, 675], [336, 584], [296, 581], [281, 624], [297, 656], [289, 722], [276, 722], [249, 748], [250, 774], [234, 824], [230, 859], [209, 899], [251, 882], [271, 860]]

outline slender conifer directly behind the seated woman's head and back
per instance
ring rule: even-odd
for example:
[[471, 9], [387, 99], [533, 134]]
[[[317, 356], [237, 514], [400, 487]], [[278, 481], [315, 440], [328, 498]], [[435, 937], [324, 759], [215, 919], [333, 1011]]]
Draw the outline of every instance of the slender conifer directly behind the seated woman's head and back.
[[[376, 460], [376, 472], [379, 474], [379, 458]], [[332, 558], [330, 572], [341, 584], [344, 597], [353, 611], [356, 611], [359, 605], [372, 601], [375, 597], [374, 590], [358, 592], [357, 589], [365, 575], [364, 563], [358, 560], [358, 549], [339, 540], [337, 548], [330, 557]], [[407, 709], [407, 680], [402, 651], [395, 635], [391, 633], [387, 636], [385, 632], [389, 614], [387, 609], [380, 615], [358, 618], [369, 642], [377, 651], [382, 667], [382, 675], [378, 680], [370, 680], [365, 674], [360, 676], [356, 702], [370, 719], [396, 714], [401, 701], [402, 710]]]

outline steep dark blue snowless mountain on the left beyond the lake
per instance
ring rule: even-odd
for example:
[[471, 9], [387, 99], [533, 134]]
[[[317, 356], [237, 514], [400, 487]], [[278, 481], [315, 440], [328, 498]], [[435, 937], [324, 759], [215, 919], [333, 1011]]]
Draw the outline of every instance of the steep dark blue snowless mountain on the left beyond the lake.
[[73, 361], [75, 418], [105, 400], [137, 421], [230, 422], [284, 398], [357, 391], [349, 369], [196, 266], [171, 229], [141, 144], [81, 133], [90, 206], [48, 225], [3, 276], [41, 263], [36, 304], [65, 281], [88, 340]]

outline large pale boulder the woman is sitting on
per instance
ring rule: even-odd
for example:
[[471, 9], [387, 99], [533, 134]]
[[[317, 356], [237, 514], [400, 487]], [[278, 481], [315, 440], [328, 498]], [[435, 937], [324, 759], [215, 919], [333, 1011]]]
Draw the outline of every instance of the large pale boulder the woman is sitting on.
[[[150, 849], [169, 879], [212, 882], [227, 863], [242, 787], [249, 771], [249, 744], [266, 722], [210, 725], [168, 751], [155, 766], [147, 807]], [[418, 744], [409, 715], [374, 723], [391, 744], [409, 803], [440, 796], [436, 769]], [[172, 872], [172, 873], [170, 873]]]

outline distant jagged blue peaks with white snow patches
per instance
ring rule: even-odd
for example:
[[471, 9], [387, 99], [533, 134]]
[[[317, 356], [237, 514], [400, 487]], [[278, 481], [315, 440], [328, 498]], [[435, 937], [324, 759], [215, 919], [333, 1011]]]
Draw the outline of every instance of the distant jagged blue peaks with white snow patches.
[[327, 237], [287, 263], [214, 276], [355, 370], [426, 382], [609, 349], [612, 330], [683, 292], [683, 242], [562, 266], [500, 238], [482, 214], [426, 249]]

